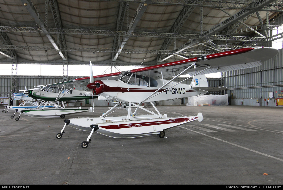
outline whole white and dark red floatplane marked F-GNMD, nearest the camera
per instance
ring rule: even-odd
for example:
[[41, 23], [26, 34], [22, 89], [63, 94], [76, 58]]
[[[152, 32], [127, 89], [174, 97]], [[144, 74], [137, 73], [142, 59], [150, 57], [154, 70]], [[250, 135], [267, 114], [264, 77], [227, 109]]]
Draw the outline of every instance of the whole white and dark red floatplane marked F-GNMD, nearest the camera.
[[[62, 137], [67, 125], [83, 131], [91, 131], [87, 140], [82, 142], [82, 148], [87, 148], [93, 132], [114, 138], [133, 138], [154, 134], [163, 138], [166, 129], [195, 120], [202, 121], [202, 114], [167, 117], [166, 114], [160, 114], [153, 104], [154, 101], [225, 90], [226, 87], [223, 86], [208, 86], [204, 74], [257, 67], [262, 61], [273, 58], [277, 53], [278, 50], [268, 47], [242, 48], [98, 76], [93, 76], [90, 62], [90, 77], [75, 80], [90, 80], [87, 87], [98, 96], [98, 100], [115, 99], [118, 103], [116, 102], [115, 106], [100, 117], [65, 119], [65, 125], [56, 138]], [[198, 75], [199, 73], [203, 75]], [[193, 77], [189, 85], [181, 83], [183, 81], [174, 82], [177, 77], [185, 74], [190, 75], [188, 78]], [[165, 80], [165, 78], [170, 79]], [[146, 109], [143, 103], [150, 103], [155, 112]], [[127, 110], [127, 116], [109, 116], [119, 104], [123, 104], [122, 107]], [[148, 112], [149, 115], [138, 115], [137, 110], [140, 109]]]

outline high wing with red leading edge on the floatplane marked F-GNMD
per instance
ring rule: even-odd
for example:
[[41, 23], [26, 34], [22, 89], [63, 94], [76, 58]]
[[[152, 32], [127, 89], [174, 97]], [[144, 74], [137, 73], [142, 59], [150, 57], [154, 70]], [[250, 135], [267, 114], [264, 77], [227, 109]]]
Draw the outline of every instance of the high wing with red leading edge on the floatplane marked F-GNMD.
[[[194, 67], [191, 67], [183, 74], [194, 75], [195, 72], [200, 71], [202, 71], [201, 74], [225, 72], [230, 70], [246, 69], [260, 66], [261, 62], [273, 58], [277, 53], [277, 49], [269, 47], [241, 48], [237, 50], [229, 50], [225, 52], [184, 59], [181, 61], [163, 63], [159, 65], [144, 67], [141, 69], [133, 69], [128, 72], [116, 72], [112, 74], [97, 75], [93, 78], [95, 80], [115, 80], [117, 79], [117, 76], [127, 73], [135, 73], [155, 78], [166, 78], [180, 74], [192, 64], [196, 65], [196, 69], [194, 69]], [[206, 70], [203, 71], [204, 69]], [[83, 77], [76, 78], [75, 80], [89, 81], [89, 79], [90, 77]]]

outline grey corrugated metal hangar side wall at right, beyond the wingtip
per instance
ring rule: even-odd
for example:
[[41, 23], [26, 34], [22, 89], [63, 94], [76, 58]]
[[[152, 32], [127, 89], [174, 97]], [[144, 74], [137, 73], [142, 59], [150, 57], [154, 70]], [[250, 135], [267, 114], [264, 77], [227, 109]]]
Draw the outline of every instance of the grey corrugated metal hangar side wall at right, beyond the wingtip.
[[283, 90], [283, 49], [259, 67], [228, 71], [222, 74], [226, 93], [233, 98], [268, 98], [268, 92]]

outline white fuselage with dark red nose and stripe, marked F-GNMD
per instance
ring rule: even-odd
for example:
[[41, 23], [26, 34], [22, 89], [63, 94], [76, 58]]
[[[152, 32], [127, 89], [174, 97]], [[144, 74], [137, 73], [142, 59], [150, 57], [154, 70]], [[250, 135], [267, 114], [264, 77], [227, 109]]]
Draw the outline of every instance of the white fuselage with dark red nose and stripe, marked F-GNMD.
[[[121, 80], [98, 80], [89, 84], [87, 87], [95, 89], [97, 95], [103, 96], [106, 99], [114, 98], [120, 101], [134, 103], [184, 98], [207, 93], [207, 91], [193, 89], [188, 84], [177, 84], [176, 82], [170, 82], [168, 85], [162, 87], [163, 82], [166, 84], [168, 81], [156, 79], [154, 82], [151, 81], [154, 85], [148, 85], [147, 83], [135, 85], [134, 83], [126, 84]], [[159, 89], [160, 87], [162, 89]], [[157, 92], [152, 95], [155, 91]]]

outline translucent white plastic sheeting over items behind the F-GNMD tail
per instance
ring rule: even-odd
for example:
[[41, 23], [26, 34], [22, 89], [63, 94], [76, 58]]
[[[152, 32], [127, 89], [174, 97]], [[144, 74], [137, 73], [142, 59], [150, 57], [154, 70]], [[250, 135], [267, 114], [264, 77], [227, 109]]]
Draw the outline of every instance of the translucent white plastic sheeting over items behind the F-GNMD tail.
[[228, 106], [228, 94], [188, 97], [187, 106]]

